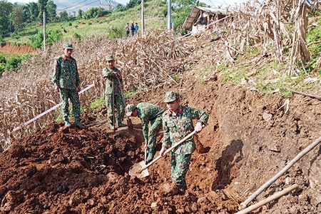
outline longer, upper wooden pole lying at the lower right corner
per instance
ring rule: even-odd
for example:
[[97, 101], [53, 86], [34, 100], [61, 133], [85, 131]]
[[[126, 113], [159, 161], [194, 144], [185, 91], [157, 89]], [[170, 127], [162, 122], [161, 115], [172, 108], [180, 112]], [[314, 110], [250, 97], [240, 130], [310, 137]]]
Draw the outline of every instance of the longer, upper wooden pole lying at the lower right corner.
[[260, 188], [258, 188], [258, 190], [255, 191], [255, 193], [253, 193], [247, 200], [245, 200], [245, 202], [241, 203], [241, 208], [244, 209], [248, 206], [248, 203], [250, 203], [256, 196], [260, 195], [260, 193], [263, 192], [263, 190], [265, 190], [267, 187], [269, 187], [275, 180], [277, 180], [277, 178], [280, 178], [281, 175], [283, 175], [287, 170], [289, 170], [289, 168], [294, 165], [297, 161], [300, 160], [300, 158], [302, 158], [303, 156], [305, 156], [306, 153], [310, 152], [312, 150], [312, 148], [315, 148], [315, 146], [317, 146], [317, 144], [319, 144], [321, 141], [321, 136], [319, 138], [317, 138], [317, 140], [315, 140], [313, 143], [311, 143], [309, 146], [307, 146], [307, 148], [305, 148], [304, 150], [302, 150], [300, 153], [297, 154], [297, 156], [295, 156], [295, 158], [292, 159], [292, 161], [290, 161], [289, 163], [287, 163], [287, 165], [285, 165], [284, 168], [282, 168], [282, 170], [280, 170], [276, 175], [273, 176], [273, 178], [271, 178], [270, 180], [267, 180], [267, 182], [263, 185], [261, 185]]

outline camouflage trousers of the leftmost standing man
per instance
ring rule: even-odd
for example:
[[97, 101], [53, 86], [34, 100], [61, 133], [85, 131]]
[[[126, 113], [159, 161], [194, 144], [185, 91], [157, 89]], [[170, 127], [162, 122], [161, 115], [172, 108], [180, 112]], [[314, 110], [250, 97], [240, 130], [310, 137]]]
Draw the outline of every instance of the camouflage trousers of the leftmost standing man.
[[59, 88], [60, 89], [60, 96], [62, 99], [62, 116], [64, 121], [69, 121], [69, 103], [68, 99], [71, 100], [73, 105], [73, 115], [75, 117], [75, 121], [80, 119], [80, 101], [77, 89], [67, 89], [67, 88]]

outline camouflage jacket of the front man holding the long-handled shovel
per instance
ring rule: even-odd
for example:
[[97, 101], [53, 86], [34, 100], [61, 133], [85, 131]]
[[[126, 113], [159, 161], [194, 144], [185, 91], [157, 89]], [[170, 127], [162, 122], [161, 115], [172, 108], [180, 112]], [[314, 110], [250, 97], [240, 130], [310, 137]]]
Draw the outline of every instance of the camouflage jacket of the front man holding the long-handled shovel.
[[[181, 139], [188, 136], [194, 131], [193, 119], [198, 119], [204, 125], [208, 122], [208, 113], [200, 111], [195, 108], [180, 106], [176, 115], [169, 110], [163, 113], [163, 130], [164, 138], [163, 145], [170, 148]], [[173, 148], [173, 153], [177, 154], [191, 154], [195, 151], [195, 143], [193, 137], [188, 138], [179, 146]]]

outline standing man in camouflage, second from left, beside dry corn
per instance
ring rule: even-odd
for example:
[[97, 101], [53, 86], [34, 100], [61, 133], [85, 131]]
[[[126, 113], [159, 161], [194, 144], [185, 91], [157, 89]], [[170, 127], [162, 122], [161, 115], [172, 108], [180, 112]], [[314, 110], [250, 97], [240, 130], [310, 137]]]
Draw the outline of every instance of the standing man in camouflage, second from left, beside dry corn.
[[[108, 61], [108, 67], [103, 68], [103, 78], [106, 81], [106, 91], [105, 100], [107, 107], [107, 118], [108, 123], [112, 130], [115, 130], [114, 117], [115, 111], [113, 107], [117, 109], [117, 123], [118, 127], [126, 126], [121, 123], [123, 121], [123, 116], [125, 116], [125, 100], [123, 97], [123, 78], [121, 78], [121, 71], [116, 68], [115, 59], [113, 56], [106, 56], [106, 61]], [[113, 103], [114, 102], [114, 103]]]

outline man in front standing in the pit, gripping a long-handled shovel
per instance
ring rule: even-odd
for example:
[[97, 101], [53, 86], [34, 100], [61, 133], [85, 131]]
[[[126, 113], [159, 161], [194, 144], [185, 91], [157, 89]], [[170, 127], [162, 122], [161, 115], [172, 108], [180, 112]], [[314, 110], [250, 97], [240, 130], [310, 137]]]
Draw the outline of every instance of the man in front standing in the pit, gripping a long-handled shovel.
[[[161, 156], [170, 146], [178, 143], [189, 133], [194, 130], [196, 133], [202, 131], [203, 125], [208, 122], [208, 113], [205, 111], [181, 106], [180, 95], [175, 91], [166, 92], [164, 102], [168, 110], [163, 113], [164, 140], [160, 152]], [[198, 119], [195, 128], [193, 119]], [[195, 143], [191, 137], [173, 148], [170, 153], [171, 177], [173, 183], [178, 183], [181, 190], [187, 189], [185, 175], [188, 172], [193, 151], [195, 151]]]

